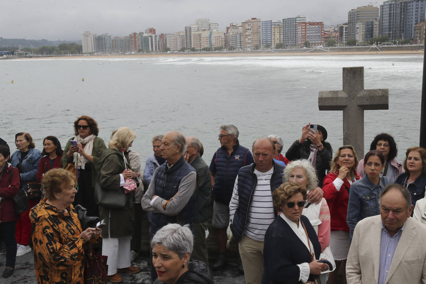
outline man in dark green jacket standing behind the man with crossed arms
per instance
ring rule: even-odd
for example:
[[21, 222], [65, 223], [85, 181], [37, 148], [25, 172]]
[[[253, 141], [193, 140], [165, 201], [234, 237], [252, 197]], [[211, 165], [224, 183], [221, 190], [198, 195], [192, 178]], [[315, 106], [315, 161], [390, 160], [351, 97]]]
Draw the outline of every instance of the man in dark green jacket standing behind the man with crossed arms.
[[212, 194], [209, 166], [201, 158], [201, 143], [196, 137], [187, 137], [187, 150], [185, 160], [193, 166], [198, 176], [196, 189], [197, 199], [194, 209], [194, 247], [191, 253], [191, 261], [200, 260], [209, 266], [209, 258], [206, 246], [207, 221], [209, 219], [209, 204]]

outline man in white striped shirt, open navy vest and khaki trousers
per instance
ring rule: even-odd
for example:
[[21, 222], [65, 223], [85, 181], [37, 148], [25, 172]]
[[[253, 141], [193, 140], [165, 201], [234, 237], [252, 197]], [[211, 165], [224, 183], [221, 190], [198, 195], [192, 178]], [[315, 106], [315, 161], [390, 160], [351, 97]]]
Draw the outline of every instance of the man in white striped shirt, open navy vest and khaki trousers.
[[245, 283], [262, 282], [265, 232], [275, 219], [272, 192], [282, 184], [285, 166], [274, 162], [270, 138], [259, 138], [252, 147], [254, 164], [239, 169], [229, 204], [233, 237], [238, 240]]

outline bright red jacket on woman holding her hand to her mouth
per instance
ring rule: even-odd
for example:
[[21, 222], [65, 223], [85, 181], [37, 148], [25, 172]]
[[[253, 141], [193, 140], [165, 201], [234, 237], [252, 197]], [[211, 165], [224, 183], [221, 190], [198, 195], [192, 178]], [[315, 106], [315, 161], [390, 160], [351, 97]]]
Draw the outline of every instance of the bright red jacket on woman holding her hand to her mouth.
[[[324, 192], [324, 198], [327, 201], [328, 208], [330, 209], [331, 231], [343, 230], [345, 232], [349, 232], [349, 226], [348, 223], [346, 223], [349, 193], [345, 186], [350, 188], [351, 184], [349, 184], [349, 181], [344, 178], [342, 187], [340, 187], [340, 190], [337, 191], [336, 187], [334, 187], [333, 181], [338, 176], [339, 172], [330, 172], [326, 175], [324, 183], [322, 184], [322, 191]], [[360, 175], [358, 175], [357, 172], [355, 172], [355, 179], [360, 179]]]

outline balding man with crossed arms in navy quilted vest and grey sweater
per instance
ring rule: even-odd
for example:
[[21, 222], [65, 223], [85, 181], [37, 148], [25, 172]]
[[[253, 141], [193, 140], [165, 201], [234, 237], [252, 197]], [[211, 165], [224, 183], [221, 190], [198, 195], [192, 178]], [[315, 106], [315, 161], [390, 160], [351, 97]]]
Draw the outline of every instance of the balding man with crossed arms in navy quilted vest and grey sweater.
[[[155, 170], [141, 201], [142, 208], [153, 213], [151, 235], [168, 223], [189, 224], [193, 229], [197, 173], [184, 160], [186, 147], [184, 135], [177, 131], [167, 132], [161, 140], [161, 155], [167, 163]], [[157, 278], [153, 266], [151, 278]]]

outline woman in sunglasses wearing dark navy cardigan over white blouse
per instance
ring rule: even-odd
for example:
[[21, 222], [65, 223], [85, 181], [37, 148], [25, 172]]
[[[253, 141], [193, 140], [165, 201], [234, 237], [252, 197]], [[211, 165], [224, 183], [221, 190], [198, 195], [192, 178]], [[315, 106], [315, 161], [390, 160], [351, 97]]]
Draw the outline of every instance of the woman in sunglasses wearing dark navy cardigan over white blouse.
[[262, 284], [314, 281], [329, 266], [318, 261], [323, 255], [317, 233], [302, 216], [308, 198], [306, 187], [288, 182], [280, 185], [272, 198], [281, 213], [265, 233]]

